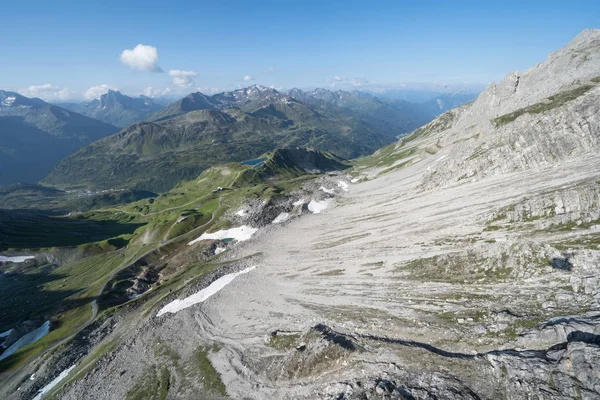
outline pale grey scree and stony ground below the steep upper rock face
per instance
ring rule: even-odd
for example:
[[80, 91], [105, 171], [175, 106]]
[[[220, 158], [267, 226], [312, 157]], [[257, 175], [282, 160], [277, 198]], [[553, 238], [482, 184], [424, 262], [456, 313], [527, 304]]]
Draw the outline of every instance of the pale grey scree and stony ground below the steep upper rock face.
[[256, 269], [202, 305], [149, 316], [65, 398], [107, 398], [107, 384], [125, 396], [165, 359], [181, 368], [168, 398], [193, 398], [205, 387], [183, 379], [198, 349], [231, 398], [594, 398], [600, 251], [586, 240], [599, 230], [564, 224], [593, 198], [555, 232], [498, 216], [588, 188], [600, 156], [423, 191], [437, 159], [234, 246], [237, 268]]

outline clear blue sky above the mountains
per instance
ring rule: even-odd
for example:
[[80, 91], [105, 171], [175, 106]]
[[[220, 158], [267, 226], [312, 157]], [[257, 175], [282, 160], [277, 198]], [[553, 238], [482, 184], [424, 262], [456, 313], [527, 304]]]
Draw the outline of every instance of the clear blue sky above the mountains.
[[[0, 88], [48, 100], [108, 87], [487, 84], [600, 27], [599, 1], [34, 0], [0, 13]], [[156, 49], [153, 67], [136, 61], [145, 51], [120, 59], [138, 44]]]

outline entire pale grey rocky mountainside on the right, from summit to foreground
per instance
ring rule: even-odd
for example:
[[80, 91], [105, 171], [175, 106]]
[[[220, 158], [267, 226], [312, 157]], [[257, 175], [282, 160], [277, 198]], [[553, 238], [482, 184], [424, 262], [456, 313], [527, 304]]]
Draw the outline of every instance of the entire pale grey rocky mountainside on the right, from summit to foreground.
[[230, 246], [221, 274], [256, 268], [202, 304], [157, 315], [218, 275], [100, 321], [90, 338], [118, 344], [75, 358], [59, 397], [145, 384], [162, 398], [599, 398], [599, 76], [600, 31], [584, 31], [351, 175], [290, 194], [337, 200]]

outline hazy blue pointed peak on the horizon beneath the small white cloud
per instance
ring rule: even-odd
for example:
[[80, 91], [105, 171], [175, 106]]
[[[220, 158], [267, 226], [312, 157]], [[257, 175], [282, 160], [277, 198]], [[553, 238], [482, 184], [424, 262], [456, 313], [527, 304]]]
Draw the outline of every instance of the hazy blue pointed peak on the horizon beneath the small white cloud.
[[62, 103], [59, 106], [121, 128], [142, 121], [164, 107], [150, 97], [129, 97], [114, 90], [89, 102]]

